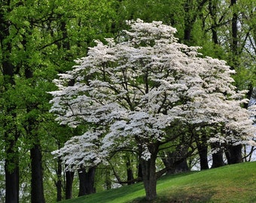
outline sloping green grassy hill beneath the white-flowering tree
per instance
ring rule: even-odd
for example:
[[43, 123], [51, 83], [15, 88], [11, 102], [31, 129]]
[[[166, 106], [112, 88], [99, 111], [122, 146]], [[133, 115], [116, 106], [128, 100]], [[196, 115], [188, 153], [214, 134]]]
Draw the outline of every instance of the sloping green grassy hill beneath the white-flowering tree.
[[[62, 203], [148, 202], [144, 197], [143, 184], [136, 183]], [[153, 202], [256, 202], [256, 162], [162, 177]]]

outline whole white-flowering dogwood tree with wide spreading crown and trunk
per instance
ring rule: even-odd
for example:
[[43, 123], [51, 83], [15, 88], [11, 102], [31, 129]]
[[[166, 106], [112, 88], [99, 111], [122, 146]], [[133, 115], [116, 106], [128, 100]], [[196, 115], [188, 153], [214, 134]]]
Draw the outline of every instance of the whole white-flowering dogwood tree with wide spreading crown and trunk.
[[74, 169], [134, 150], [151, 200], [157, 195], [157, 153], [178, 136], [172, 128], [221, 126], [212, 141], [233, 143], [251, 140], [254, 132], [248, 111], [240, 107], [245, 92], [236, 92], [234, 71], [224, 61], [203, 58], [199, 47], [178, 43], [176, 30], [161, 22], [127, 23], [130, 31], [117, 41], [96, 41], [78, 65], [54, 80], [59, 87], [50, 92], [56, 120], [87, 126], [84, 135], [54, 154]]

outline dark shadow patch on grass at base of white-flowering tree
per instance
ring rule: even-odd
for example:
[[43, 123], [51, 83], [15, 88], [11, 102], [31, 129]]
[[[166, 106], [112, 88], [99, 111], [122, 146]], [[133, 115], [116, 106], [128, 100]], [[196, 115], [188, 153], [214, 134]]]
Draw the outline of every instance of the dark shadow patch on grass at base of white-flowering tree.
[[153, 201], [147, 201], [145, 198], [136, 198], [129, 203], [205, 203], [211, 201], [212, 195], [215, 192], [209, 188], [204, 191], [194, 191], [193, 193], [187, 193], [187, 190], [176, 190], [169, 192], [168, 195], [157, 195], [157, 198]]

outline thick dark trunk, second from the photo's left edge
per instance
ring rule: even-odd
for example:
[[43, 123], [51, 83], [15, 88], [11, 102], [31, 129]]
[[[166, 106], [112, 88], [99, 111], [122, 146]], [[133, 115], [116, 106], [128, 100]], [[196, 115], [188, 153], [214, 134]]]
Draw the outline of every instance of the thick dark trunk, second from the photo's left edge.
[[31, 202], [44, 203], [43, 168], [40, 144], [34, 144], [30, 150], [31, 158]]

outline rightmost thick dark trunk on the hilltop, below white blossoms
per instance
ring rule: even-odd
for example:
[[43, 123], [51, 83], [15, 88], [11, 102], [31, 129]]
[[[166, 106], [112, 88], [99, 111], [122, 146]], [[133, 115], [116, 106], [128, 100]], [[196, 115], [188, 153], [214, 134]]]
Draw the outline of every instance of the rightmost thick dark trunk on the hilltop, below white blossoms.
[[242, 145], [230, 145], [226, 150], [228, 164], [236, 164], [242, 162]]

